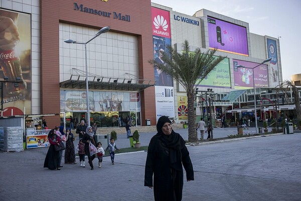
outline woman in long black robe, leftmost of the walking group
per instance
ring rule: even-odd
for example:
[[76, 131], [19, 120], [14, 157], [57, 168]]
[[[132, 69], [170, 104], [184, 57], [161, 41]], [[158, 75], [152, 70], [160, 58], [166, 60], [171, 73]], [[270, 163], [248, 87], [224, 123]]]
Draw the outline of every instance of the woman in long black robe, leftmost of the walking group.
[[54, 145], [60, 145], [61, 138], [56, 135], [56, 130], [50, 130], [48, 134], [48, 141], [50, 143], [47, 155], [44, 161], [44, 167], [48, 169], [61, 169], [60, 168], [60, 151], [55, 151]]

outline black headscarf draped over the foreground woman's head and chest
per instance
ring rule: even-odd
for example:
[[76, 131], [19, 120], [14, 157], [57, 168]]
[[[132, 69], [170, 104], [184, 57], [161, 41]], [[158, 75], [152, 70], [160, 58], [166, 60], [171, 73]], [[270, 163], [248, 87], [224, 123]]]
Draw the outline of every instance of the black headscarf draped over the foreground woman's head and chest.
[[180, 134], [175, 133], [172, 130], [170, 135], [165, 135], [162, 131], [162, 127], [165, 123], [171, 123], [171, 120], [167, 116], [162, 116], [157, 122], [157, 135], [160, 136], [162, 142], [170, 149], [170, 164], [173, 168], [181, 170], [181, 149], [185, 146], [185, 141], [180, 136]]

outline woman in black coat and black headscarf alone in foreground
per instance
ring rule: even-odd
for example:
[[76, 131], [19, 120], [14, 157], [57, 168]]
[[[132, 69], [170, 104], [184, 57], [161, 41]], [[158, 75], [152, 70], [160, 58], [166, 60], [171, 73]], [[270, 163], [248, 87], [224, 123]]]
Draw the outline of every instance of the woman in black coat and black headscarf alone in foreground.
[[174, 132], [172, 122], [167, 116], [159, 118], [157, 131], [148, 145], [144, 186], [154, 186], [156, 201], [182, 200], [182, 164], [186, 170], [187, 181], [194, 180], [189, 152], [184, 139]]

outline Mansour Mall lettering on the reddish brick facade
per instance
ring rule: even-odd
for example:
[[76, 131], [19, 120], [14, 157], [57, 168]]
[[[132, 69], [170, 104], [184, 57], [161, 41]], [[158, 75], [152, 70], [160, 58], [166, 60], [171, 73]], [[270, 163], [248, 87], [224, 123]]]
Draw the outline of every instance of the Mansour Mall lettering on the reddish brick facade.
[[121, 20], [121, 21], [130, 22], [129, 15], [124, 15], [124, 14], [116, 13], [116, 12], [110, 13], [110, 12], [106, 12], [106, 11], [100, 11], [97, 9], [84, 7], [84, 5], [82, 5], [82, 4], [78, 5], [77, 3], [73, 3], [73, 10], [92, 14], [92, 15], [97, 15], [97, 16], [102, 16], [102, 17], [113, 18], [113, 19], [117, 19], [117, 20]]

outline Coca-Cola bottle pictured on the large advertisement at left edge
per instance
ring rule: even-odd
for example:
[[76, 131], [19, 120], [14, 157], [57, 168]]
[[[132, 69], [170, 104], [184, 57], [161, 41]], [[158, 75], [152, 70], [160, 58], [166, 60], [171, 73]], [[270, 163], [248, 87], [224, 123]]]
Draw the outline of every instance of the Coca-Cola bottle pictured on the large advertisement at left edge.
[[27, 84], [23, 79], [20, 58], [14, 49], [0, 50], [0, 66], [4, 76], [7, 76], [9, 81], [20, 81], [20, 83], [7, 82], [8, 93], [14, 94], [26, 90]]

